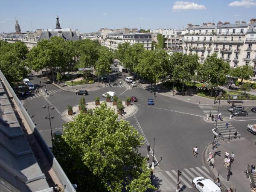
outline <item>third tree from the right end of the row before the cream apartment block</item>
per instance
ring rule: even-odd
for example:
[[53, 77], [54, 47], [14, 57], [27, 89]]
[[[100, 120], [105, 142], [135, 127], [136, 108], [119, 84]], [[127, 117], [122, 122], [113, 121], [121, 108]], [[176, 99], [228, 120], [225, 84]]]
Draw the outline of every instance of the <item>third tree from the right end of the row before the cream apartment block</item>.
[[182, 81], [181, 93], [184, 93], [184, 83], [190, 81], [195, 75], [198, 67], [198, 55], [183, 55], [183, 53], [175, 52], [170, 56], [173, 69], [173, 78]]

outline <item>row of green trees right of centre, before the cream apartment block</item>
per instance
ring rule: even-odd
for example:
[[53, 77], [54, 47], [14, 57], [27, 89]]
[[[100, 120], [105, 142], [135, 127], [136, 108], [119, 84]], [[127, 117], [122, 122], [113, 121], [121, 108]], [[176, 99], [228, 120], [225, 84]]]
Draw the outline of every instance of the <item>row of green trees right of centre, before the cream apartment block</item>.
[[229, 63], [217, 58], [217, 54], [213, 54], [201, 64], [198, 63], [197, 54], [184, 55], [175, 52], [168, 55], [163, 49], [151, 51], [145, 50], [142, 44], [124, 43], [119, 44], [116, 57], [130, 73], [136, 72], [151, 83], [156, 83], [157, 80], [182, 82], [182, 93], [185, 81], [203, 81], [212, 90], [217, 84], [225, 84], [227, 75], [241, 78], [241, 81], [253, 76], [252, 67], [240, 66], [230, 69]]

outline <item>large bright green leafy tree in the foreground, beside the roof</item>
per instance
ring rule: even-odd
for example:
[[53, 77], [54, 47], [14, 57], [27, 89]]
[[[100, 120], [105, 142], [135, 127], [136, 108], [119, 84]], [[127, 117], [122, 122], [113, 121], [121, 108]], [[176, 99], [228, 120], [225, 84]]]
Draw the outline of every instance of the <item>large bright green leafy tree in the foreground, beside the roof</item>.
[[138, 152], [143, 136], [117, 116], [104, 102], [93, 113], [80, 113], [53, 140], [53, 154], [78, 191], [116, 192], [123, 184], [140, 192], [155, 189]]

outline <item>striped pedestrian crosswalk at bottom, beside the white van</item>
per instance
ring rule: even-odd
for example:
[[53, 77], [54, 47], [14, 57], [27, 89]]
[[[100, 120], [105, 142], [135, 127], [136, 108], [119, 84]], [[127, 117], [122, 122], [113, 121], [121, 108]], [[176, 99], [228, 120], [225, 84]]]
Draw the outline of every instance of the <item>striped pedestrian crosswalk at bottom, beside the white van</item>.
[[[193, 188], [191, 181], [195, 177], [204, 177], [210, 180], [213, 178], [210, 176], [209, 170], [205, 166], [179, 169], [182, 174], [180, 176], [180, 186], [186, 186], [186, 188]], [[177, 170], [154, 172], [154, 175], [162, 180], [162, 191], [172, 191], [177, 188]]]

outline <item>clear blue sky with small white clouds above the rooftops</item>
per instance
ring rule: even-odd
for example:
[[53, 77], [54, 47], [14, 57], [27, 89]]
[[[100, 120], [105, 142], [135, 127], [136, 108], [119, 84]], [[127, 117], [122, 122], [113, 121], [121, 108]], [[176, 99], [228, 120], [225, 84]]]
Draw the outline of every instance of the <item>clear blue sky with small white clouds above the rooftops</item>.
[[61, 28], [96, 32], [100, 28], [184, 29], [188, 23], [248, 22], [256, 0], [0, 0], [0, 32]]

